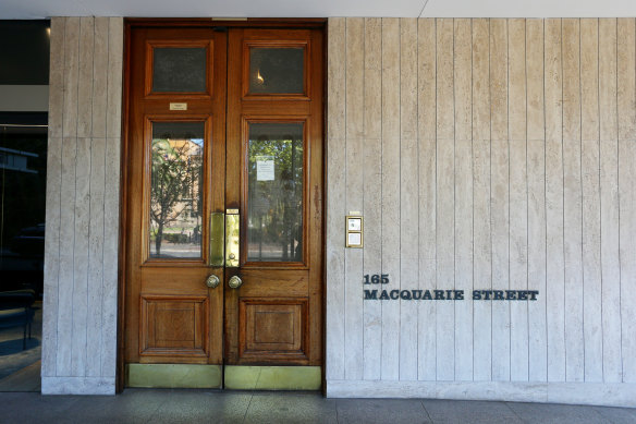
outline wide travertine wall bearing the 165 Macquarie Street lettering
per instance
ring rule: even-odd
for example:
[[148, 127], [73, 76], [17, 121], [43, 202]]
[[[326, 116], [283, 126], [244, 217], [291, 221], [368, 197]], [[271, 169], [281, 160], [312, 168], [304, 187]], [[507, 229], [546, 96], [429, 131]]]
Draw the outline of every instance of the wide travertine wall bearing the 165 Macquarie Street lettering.
[[328, 63], [328, 395], [636, 404], [635, 20], [330, 19]]

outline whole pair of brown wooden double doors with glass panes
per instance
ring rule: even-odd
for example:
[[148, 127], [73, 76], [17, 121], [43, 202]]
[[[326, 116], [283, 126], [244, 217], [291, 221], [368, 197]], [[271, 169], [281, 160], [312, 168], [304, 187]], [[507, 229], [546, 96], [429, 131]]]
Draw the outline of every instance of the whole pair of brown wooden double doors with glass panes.
[[322, 37], [130, 28], [126, 364], [321, 365]]

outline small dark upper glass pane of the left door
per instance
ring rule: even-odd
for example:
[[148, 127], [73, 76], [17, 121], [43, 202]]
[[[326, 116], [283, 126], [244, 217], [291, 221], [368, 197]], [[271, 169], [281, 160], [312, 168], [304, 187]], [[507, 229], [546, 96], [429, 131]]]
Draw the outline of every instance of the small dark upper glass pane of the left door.
[[154, 93], [205, 93], [207, 49], [205, 47], [155, 47]]

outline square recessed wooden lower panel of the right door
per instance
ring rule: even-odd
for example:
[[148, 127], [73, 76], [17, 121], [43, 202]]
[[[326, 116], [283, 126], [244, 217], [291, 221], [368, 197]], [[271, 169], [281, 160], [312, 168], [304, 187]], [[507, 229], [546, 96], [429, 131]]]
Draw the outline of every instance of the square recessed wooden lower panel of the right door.
[[308, 360], [307, 299], [240, 300], [238, 361]]

